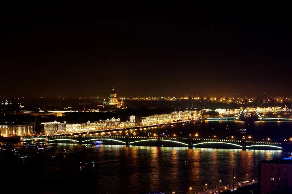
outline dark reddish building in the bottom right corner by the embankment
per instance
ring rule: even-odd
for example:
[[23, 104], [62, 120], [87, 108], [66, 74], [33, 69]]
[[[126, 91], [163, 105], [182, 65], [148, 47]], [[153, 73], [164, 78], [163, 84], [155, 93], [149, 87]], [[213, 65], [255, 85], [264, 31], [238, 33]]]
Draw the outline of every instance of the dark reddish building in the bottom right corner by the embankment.
[[260, 163], [261, 194], [292, 194], [292, 160], [277, 158]]

